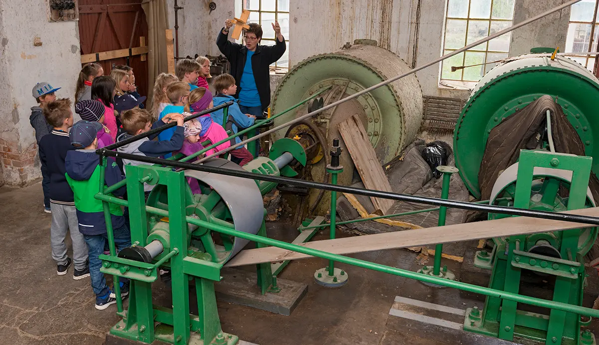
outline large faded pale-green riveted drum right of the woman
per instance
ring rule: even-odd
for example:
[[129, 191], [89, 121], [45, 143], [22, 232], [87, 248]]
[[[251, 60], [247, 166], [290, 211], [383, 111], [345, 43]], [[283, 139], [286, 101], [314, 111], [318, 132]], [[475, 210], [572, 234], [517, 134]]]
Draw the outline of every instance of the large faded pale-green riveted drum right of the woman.
[[[356, 40], [353, 46], [338, 52], [308, 57], [283, 77], [274, 91], [271, 113], [277, 114], [319, 90], [329, 87], [320, 97], [322, 105], [328, 105], [356, 92], [409, 71], [409, 66], [389, 50], [377, 47], [376, 41]], [[379, 162], [385, 164], [395, 158], [416, 137], [422, 122], [422, 90], [415, 75], [401, 78], [356, 99], [344, 102], [312, 119], [282, 129], [273, 135], [273, 141], [289, 137], [301, 138], [307, 143], [308, 166], [311, 180], [323, 181], [325, 177], [326, 152], [334, 138], [341, 138], [337, 125], [357, 115], [370, 137]], [[289, 122], [310, 111], [307, 105], [299, 107], [274, 120], [274, 125]], [[326, 141], [326, 143], [322, 143]], [[341, 147], [347, 152], [343, 141]], [[324, 158], [324, 159], [323, 159]], [[349, 186], [354, 165], [349, 155], [341, 157], [344, 173], [339, 183]], [[318, 192], [316, 190], [316, 192]], [[328, 205], [328, 196], [320, 205]], [[314, 204], [316, 193], [310, 195]], [[319, 208], [320, 213], [326, 206]]]

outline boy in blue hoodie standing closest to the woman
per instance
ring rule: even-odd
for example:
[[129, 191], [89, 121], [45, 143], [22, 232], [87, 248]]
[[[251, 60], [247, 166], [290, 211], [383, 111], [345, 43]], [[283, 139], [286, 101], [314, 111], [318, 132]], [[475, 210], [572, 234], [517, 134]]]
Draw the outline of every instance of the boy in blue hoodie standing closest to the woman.
[[[214, 87], [216, 88], [216, 97], [214, 97], [214, 106], [226, 103], [228, 101], [235, 101], [233, 105], [229, 107], [228, 118], [226, 119], [225, 129], [227, 131], [232, 130], [233, 133], [237, 134], [239, 129], [248, 128], [252, 126], [256, 120], [256, 116], [250, 114], [241, 113], [239, 104], [234, 95], [237, 92], [237, 85], [235, 85], [235, 78], [231, 74], [221, 74], [214, 78]], [[223, 123], [223, 110], [219, 109], [211, 113], [212, 119], [216, 123]], [[231, 145], [241, 143], [241, 138], [235, 138], [235, 143], [231, 140]], [[252, 153], [249, 152], [245, 147], [240, 146], [235, 150], [229, 151], [231, 154], [231, 162], [239, 164], [241, 167], [246, 165], [248, 162], [254, 159]]]

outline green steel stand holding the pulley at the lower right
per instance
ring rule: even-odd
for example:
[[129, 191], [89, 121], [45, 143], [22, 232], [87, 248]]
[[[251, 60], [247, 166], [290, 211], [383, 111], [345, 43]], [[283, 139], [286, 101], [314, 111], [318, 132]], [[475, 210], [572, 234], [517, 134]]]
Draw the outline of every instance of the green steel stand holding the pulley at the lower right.
[[[563, 155], [541, 151], [522, 150], [520, 153], [514, 207], [530, 208], [534, 168], [556, 168], [572, 171], [567, 209], [584, 208], [587, 199], [589, 174], [592, 159], [583, 156]], [[555, 179], [543, 180], [543, 199], [555, 201], [558, 188], [552, 186]], [[559, 184], [558, 184], [559, 187]], [[534, 207], [533, 207], [534, 208]], [[548, 233], [546, 238], [555, 238], [551, 244], [559, 258], [531, 253], [532, 246], [539, 244], [536, 235], [518, 235], [506, 238], [504, 243], [496, 242], [495, 249], [489, 254], [477, 254], [485, 259], [482, 264], [492, 261], [492, 275], [489, 287], [506, 293], [519, 293], [521, 270], [527, 269], [541, 274], [555, 276], [553, 302], [582, 305], [585, 269], [583, 253], [578, 249], [581, 229], [571, 229]], [[595, 344], [594, 335], [582, 332], [580, 326], [588, 325], [580, 320], [580, 315], [566, 311], [550, 309], [549, 315], [531, 313], [518, 309], [518, 302], [487, 296], [483, 310], [468, 308], [464, 320], [464, 329], [471, 332], [513, 341], [515, 336], [543, 341], [549, 345]]]

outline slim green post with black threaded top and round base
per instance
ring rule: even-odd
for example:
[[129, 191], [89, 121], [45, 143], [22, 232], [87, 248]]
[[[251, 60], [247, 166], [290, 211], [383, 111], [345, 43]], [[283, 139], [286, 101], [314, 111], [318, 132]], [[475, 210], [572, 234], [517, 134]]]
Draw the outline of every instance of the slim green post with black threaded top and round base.
[[[326, 171], [331, 174], [331, 183], [337, 184], [337, 175], [343, 173], [343, 166], [339, 164], [341, 156], [341, 147], [339, 140], [333, 140], [331, 147], [331, 164], [326, 167]], [[331, 240], [335, 239], [335, 221], [337, 220], [337, 192], [331, 192]], [[314, 273], [314, 280], [318, 285], [325, 287], [339, 287], [346, 285], [347, 273], [340, 268], [335, 268], [335, 262], [329, 260], [328, 267], [320, 268]]]

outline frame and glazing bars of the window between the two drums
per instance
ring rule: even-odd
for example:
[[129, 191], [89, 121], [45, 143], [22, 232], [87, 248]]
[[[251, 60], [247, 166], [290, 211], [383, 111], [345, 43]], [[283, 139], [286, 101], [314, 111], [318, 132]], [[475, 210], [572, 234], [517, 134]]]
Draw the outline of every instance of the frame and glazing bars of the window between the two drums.
[[[462, 45], [462, 47], [465, 47], [467, 45], [468, 42], [468, 29], [470, 29], [470, 22], [472, 21], [484, 21], [487, 22], [487, 37], [489, 35], [491, 35], [491, 25], [493, 22], [508, 22], [510, 23], [510, 26], [513, 25], [513, 20], [514, 20], [514, 15], [515, 15], [515, 9], [512, 10], [512, 18], [511, 19], [494, 19], [493, 18], [493, 7], [495, 4], [495, 1], [501, 1], [501, 0], [490, 0], [491, 1], [491, 5], [489, 8], [489, 16], [487, 18], [471, 18], [471, 7], [472, 7], [472, 2], [475, 0], [464, 0], [464, 1], [468, 1], [468, 11], [466, 14], [466, 17], [450, 17], [449, 16], [449, 5], [450, 5], [450, 1], [451, 0], [446, 0], [445, 1], [445, 14], [444, 14], [444, 23], [443, 23], [443, 36], [442, 39], [443, 41], [441, 42], [441, 56], [446, 55], [446, 53], [449, 52], [455, 52], [458, 49], [447, 49], [446, 48], [446, 39], [447, 39], [447, 23], [449, 22], [449, 20], [461, 20], [461, 21], [465, 21], [465, 35], [464, 35], [464, 43]], [[514, 7], [515, 7], [515, 2], [514, 2]], [[485, 73], [488, 72], [488, 69], [486, 69], [486, 65], [489, 64], [490, 62], [487, 61], [488, 59], [488, 55], [490, 54], [506, 54], [506, 58], [509, 57], [509, 52], [510, 49], [512, 48], [512, 40], [511, 40], [511, 36], [510, 36], [510, 43], [509, 43], [509, 47], [507, 49], [507, 52], [500, 52], [498, 50], [489, 50], [489, 42], [486, 43], [485, 49], [468, 49], [466, 50], [464, 53], [462, 53], [462, 62], [461, 62], [461, 66], [465, 66], [466, 65], [466, 53], [467, 52], [474, 52], [474, 53], [484, 53], [485, 54]], [[462, 68], [461, 69], [461, 75], [459, 79], [451, 79], [451, 78], [444, 78], [443, 77], [443, 65], [447, 60], [444, 60], [443, 62], [440, 63], [440, 68], [439, 68], [439, 86], [440, 87], [449, 87], [449, 88], [470, 88], [470, 86], [473, 86], [474, 84], [476, 84], [479, 80], [466, 80], [464, 79], [464, 73], [466, 68]], [[484, 74], [483, 74], [484, 75]]]

